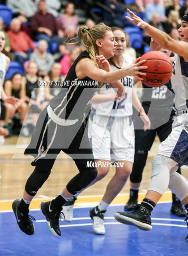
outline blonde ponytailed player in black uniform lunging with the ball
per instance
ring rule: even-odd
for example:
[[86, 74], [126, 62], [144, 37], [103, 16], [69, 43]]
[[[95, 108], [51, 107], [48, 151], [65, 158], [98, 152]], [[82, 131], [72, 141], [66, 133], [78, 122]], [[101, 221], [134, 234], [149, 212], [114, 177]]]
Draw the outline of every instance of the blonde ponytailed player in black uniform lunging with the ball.
[[90, 29], [81, 26], [78, 36], [86, 50], [71, 66], [60, 93], [41, 112], [31, 142], [25, 150], [25, 155], [35, 157], [31, 163], [35, 169], [26, 182], [22, 199], [13, 202], [13, 211], [19, 228], [28, 235], [34, 234], [34, 225], [29, 216], [30, 202], [50, 175], [61, 150], [73, 158], [79, 173], [54, 200], [40, 205], [52, 234], [61, 235], [59, 217], [64, 203], [97, 176], [95, 167], [86, 167], [87, 160], [94, 162], [94, 157], [82, 122], [83, 113], [96, 87], [101, 83], [110, 83], [117, 94], [124, 97], [124, 86], [118, 80], [127, 75], [145, 74], [139, 70], [147, 68], [139, 67], [145, 60], [139, 62], [137, 59], [127, 67], [111, 72], [107, 59], [114, 56], [117, 43], [111, 28], [103, 22]]

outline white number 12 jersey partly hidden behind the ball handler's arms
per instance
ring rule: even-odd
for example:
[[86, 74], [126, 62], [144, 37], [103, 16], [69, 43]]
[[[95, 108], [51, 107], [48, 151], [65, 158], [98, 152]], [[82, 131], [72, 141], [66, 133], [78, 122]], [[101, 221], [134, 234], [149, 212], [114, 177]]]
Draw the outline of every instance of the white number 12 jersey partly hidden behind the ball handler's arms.
[[[122, 67], [126, 67], [132, 63], [132, 58], [123, 56]], [[118, 68], [111, 65], [113, 71]], [[133, 76], [125, 76], [121, 79], [122, 84], [125, 86], [125, 90], [128, 91], [126, 99], [123, 100], [111, 100], [103, 103], [92, 104], [92, 108], [95, 110], [95, 114], [99, 116], [111, 116], [111, 117], [127, 117], [132, 115], [132, 86]], [[99, 94], [115, 94], [115, 90], [111, 88], [111, 85], [104, 84], [99, 90]], [[114, 96], [115, 99], [115, 96]]]

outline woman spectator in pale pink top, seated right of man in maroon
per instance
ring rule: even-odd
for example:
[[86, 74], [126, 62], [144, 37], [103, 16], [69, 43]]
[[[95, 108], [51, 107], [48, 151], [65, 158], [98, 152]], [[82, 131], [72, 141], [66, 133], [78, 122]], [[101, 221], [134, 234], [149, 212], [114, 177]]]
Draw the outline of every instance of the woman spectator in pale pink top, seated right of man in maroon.
[[72, 2], [66, 4], [64, 8], [64, 14], [60, 14], [57, 21], [58, 23], [58, 36], [63, 37], [68, 27], [73, 26], [74, 31], [77, 32], [78, 28], [78, 17], [74, 14], [75, 6]]

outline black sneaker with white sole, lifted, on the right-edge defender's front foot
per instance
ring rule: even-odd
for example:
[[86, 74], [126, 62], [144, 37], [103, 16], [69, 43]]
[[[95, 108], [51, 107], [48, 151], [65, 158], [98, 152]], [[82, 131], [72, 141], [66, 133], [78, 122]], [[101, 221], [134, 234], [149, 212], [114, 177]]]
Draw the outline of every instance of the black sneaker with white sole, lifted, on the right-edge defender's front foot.
[[116, 212], [115, 220], [126, 225], [133, 225], [141, 230], [151, 230], [150, 212], [141, 204], [134, 205], [128, 212]]

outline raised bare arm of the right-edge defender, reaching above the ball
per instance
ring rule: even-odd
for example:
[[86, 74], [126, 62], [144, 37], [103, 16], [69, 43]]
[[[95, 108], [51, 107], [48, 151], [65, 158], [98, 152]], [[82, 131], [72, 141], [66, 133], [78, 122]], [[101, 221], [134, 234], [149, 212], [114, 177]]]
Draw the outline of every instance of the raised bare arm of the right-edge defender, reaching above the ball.
[[152, 27], [147, 22], [144, 22], [140, 17], [135, 15], [132, 11], [130, 11], [129, 9], [127, 10], [128, 10], [128, 13], [131, 15], [131, 18], [126, 16], [126, 19], [132, 22], [133, 24], [135, 24], [137, 27], [141, 27], [142, 29], [144, 29], [158, 45], [160, 45], [162, 48], [168, 49], [171, 52], [178, 54], [179, 56], [188, 58], [187, 42], [175, 41], [170, 36], [168, 36], [165, 32], [155, 27]]

